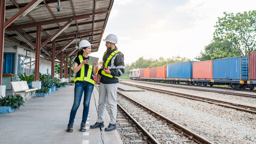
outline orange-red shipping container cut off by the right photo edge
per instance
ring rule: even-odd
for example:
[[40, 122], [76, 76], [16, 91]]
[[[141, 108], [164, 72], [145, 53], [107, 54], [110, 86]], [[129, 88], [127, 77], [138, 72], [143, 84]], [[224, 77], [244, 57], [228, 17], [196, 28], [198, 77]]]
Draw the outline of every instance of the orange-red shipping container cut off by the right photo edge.
[[256, 80], [256, 52], [249, 52], [249, 80]]

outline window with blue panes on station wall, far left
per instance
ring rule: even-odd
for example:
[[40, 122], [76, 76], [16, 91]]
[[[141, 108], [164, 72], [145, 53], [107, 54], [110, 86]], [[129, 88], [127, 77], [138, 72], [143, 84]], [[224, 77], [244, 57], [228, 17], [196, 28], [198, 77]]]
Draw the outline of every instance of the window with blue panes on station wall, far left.
[[3, 74], [14, 74], [15, 53], [4, 53]]

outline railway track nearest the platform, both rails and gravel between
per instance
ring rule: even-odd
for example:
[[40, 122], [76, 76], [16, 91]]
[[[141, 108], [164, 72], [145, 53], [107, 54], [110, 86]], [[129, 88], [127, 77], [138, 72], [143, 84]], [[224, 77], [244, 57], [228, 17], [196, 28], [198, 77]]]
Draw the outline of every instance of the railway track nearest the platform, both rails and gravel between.
[[136, 124], [148, 143], [212, 143], [118, 91], [118, 107]]

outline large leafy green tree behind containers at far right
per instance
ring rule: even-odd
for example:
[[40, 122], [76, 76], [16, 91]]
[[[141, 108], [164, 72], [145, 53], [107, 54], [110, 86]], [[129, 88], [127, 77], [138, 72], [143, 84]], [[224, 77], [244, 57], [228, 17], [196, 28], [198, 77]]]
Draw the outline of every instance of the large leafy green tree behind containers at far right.
[[218, 17], [213, 41], [204, 47], [198, 60], [246, 56], [256, 50], [256, 11], [224, 14]]

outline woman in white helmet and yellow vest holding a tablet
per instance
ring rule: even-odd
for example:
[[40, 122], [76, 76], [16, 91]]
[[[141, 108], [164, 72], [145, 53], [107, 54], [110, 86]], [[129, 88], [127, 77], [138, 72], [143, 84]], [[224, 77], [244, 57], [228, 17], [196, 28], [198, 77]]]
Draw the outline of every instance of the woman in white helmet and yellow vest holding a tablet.
[[94, 88], [93, 75], [98, 71], [98, 64], [96, 62], [93, 65], [88, 65], [89, 54], [91, 53], [91, 44], [87, 40], [82, 40], [79, 43], [78, 56], [76, 56], [73, 71], [76, 73], [75, 79], [75, 98], [72, 110], [70, 112], [69, 124], [67, 125], [67, 132], [73, 132], [73, 124], [76, 116], [76, 112], [81, 103], [82, 95], [84, 92], [84, 109], [81, 122], [80, 131], [85, 131], [85, 124], [89, 112], [89, 105], [91, 100], [91, 94]]

